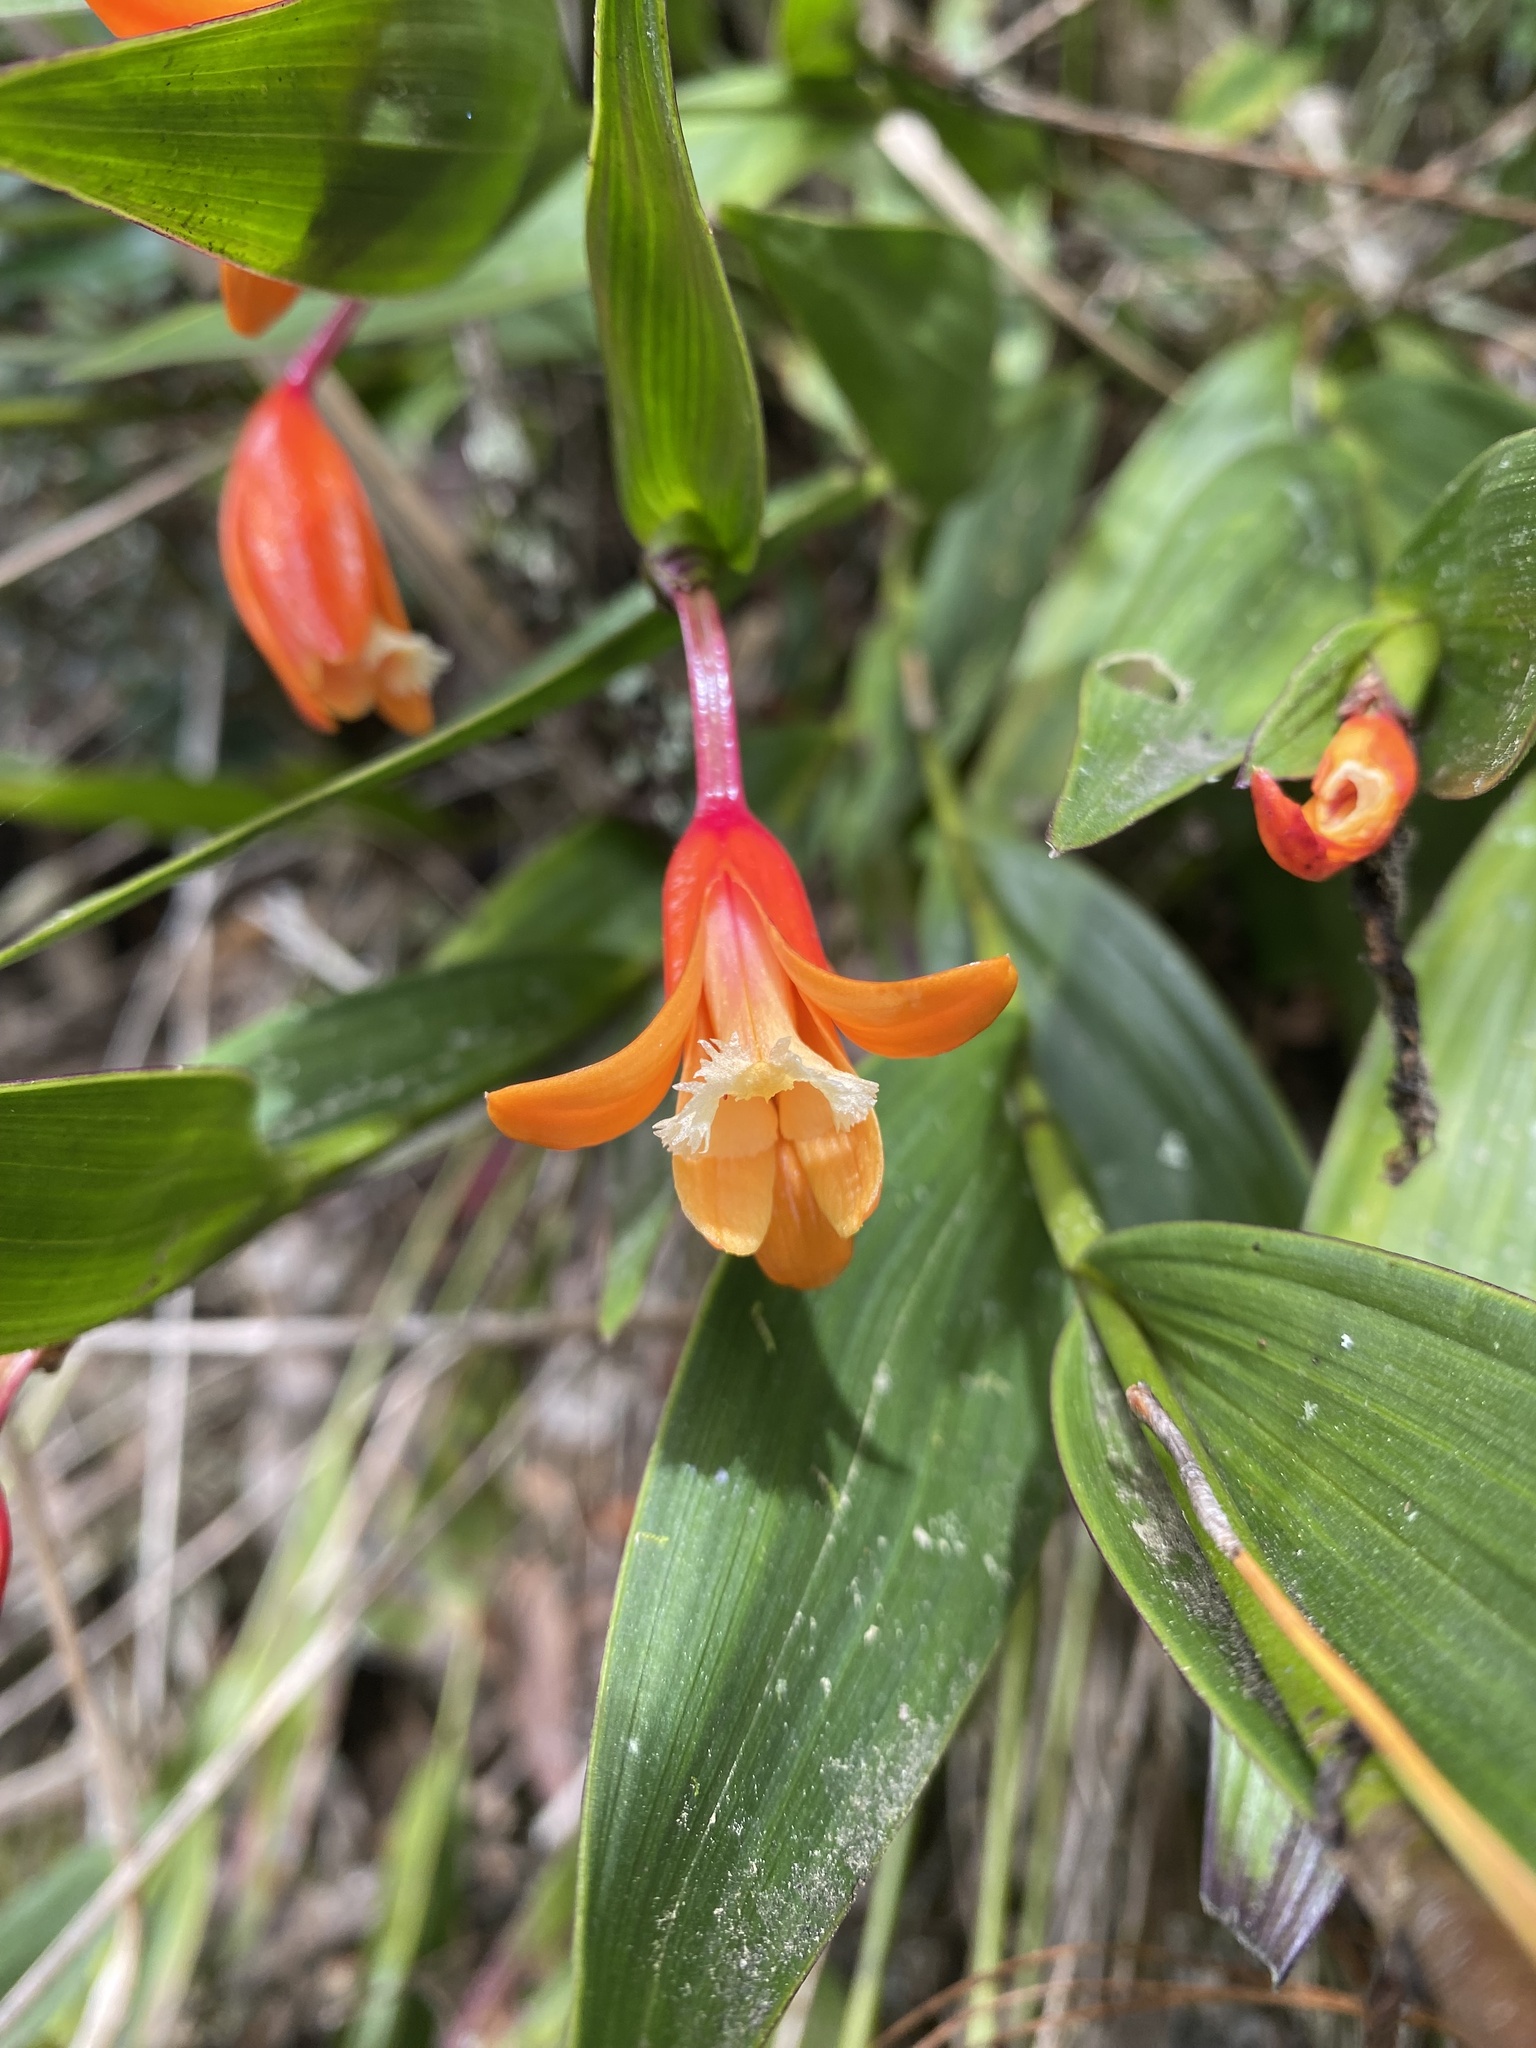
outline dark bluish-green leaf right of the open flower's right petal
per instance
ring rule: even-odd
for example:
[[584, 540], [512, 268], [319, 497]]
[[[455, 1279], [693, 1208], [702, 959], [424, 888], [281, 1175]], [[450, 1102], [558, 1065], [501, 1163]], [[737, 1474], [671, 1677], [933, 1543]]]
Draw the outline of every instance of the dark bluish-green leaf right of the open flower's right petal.
[[1184, 948], [1087, 862], [983, 836], [1030, 1057], [1112, 1227], [1294, 1223], [1300, 1139]]

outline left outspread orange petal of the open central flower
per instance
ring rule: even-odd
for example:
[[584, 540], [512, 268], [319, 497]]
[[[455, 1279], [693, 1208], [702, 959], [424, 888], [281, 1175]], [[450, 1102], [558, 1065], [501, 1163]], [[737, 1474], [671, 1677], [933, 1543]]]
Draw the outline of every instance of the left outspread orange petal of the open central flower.
[[639, 1038], [631, 1038], [623, 1051], [592, 1067], [578, 1067], [575, 1073], [498, 1087], [485, 1096], [496, 1128], [510, 1139], [545, 1145], [549, 1151], [606, 1145], [608, 1139], [633, 1130], [662, 1106], [672, 1085], [702, 985], [705, 948], [696, 942], [682, 981]]

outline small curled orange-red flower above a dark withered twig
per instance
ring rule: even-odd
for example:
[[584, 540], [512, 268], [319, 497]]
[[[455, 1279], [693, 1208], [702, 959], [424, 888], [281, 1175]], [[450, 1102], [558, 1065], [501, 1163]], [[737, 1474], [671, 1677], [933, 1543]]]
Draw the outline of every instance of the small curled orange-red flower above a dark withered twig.
[[1364, 711], [1329, 739], [1307, 803], [1294, 803], [1264, 768], [1253, 770], [1253, 815], [1264, 850], [1305, 883], [1378, 854], [1397, 831], [1419, 762], [1401, 719]]

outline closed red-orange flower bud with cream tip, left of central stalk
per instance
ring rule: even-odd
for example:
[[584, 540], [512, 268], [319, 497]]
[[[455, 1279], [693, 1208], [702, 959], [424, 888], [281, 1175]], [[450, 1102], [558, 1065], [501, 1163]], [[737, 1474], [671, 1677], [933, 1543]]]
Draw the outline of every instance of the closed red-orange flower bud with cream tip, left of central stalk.
[[295, 709], [322, 733], [377, 711], [401, 733], [432, 725], [449, 666], [412, 633], [356, 471], [307, 391], [281, 383], [254, 408], [219, 506], [236, 610]]

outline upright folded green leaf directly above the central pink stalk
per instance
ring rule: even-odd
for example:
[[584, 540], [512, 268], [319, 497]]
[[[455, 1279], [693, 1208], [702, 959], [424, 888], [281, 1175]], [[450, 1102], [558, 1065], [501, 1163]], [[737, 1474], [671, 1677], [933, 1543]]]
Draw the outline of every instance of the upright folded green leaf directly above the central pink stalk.
[[662, 0], [598, 0], [596, 49], [586, 236], [618, 502], [643, 547], [745, 569], [762, 412], [688, 166]]

